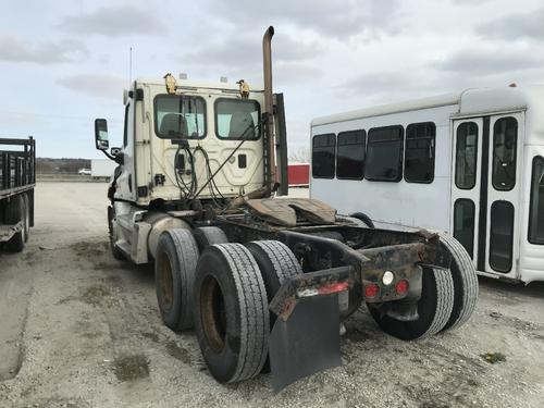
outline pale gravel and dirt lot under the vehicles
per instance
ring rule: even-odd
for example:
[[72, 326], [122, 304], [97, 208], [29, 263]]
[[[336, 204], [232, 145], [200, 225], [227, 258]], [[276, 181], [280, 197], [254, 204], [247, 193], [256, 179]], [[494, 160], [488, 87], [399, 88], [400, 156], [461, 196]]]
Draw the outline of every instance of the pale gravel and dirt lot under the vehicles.
[[106, 184], [39, 184], [28, 247], [0, 255], [1, 407], [543, 405], [544, 285], [489, 280], [460, 330], [404, 343], [361, 309], [343, 367], [276, 396], [268, 375], [218, 384], [195, 335], [161, 324], [152, 270], [110, 256], [104, 196]]

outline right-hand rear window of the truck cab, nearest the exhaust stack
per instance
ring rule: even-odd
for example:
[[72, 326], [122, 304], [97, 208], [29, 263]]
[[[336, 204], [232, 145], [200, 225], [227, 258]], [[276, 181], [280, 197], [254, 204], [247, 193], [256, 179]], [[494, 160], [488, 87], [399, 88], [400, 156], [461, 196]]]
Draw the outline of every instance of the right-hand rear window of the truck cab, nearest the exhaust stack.
[[260, 136], [259, 103], [249, 99], [225, 99], [215, 101], [215, 134], [221, 139], [252, 139]]

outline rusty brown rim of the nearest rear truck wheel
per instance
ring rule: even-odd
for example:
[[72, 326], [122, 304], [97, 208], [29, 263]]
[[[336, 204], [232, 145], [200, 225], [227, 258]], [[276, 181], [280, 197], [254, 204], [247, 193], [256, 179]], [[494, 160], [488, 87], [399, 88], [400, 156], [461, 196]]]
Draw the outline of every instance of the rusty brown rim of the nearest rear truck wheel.
[[202, 329], [210, 347], [220, 353], [225, 346], [226, 313], [223, 292], [219, 282], [207, 276], [200, 292]]

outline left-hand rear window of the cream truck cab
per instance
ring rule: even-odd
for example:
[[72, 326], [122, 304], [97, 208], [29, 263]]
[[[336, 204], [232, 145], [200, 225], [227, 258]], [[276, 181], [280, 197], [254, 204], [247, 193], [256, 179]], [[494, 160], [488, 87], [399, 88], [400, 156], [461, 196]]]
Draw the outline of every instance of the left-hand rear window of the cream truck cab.
[[159, 95], [154, 98], [154, 133], [163, 139], [206, 136], [206, 102], [200, 97]]

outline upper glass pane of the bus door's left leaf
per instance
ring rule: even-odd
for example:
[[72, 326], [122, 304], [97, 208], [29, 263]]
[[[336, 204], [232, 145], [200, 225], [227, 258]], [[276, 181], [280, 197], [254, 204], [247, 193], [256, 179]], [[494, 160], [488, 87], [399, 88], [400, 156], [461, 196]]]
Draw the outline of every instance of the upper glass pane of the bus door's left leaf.
[[457, 127], [455, 185], [471, 189], [475, 185], [478, 159], [478, 125], [463, 122]]

